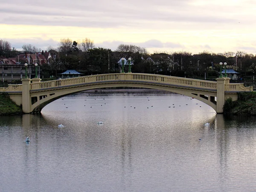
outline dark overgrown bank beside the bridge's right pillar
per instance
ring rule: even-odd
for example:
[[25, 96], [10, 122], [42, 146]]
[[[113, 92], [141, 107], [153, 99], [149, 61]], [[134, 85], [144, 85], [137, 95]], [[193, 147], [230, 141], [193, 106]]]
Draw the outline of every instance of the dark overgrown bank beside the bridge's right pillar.
[[237, 101], [226, 99], [223, 112], [240, 116], [256, 116], [256, 92], [239, 93]]

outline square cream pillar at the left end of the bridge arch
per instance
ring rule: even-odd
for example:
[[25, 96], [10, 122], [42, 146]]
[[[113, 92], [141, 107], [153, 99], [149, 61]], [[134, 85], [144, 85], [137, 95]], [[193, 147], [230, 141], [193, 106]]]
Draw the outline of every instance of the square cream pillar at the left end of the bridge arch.
[[30, 79], [22, 79], [22, 111], [30, 113]]

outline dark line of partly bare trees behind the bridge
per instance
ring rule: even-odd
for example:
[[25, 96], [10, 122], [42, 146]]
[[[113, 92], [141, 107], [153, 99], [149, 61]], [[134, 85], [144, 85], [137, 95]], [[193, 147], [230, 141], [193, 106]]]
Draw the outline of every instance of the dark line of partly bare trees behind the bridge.
[[[35, 53], [41, 49], [31, 44], [24, 44], [22, 52]], [[58, 76], [64, 70], [73, 69], [86, 75], [119, 73], [122, 57], [132, 60], [132, 72], [172, 75], [180, 77], [198, 78], [207, 73], [207, 76], [217, 76], [220, 71], [219, 63], [226, 62], [227, 69], [236, 70], [244, 76], [256, 72], [256, 55], [244, 51], [212, 53], [203, 51], [192, 55], [191, 52], [154, 52], [149, 53], [144, 47], [120, 44], [116, 50], [95, 47], [89, 38], [81, 42], [70, 38], [61, 39], [58, 47], [47, 47], [52, 58], [48, 64], [41, 66], [44, 76]], [[12, 48], [9, 41], [0, 40], [0, 56], [15, 57], [20, 51]], [[128, 65], [125, 65], [128, 71]]]

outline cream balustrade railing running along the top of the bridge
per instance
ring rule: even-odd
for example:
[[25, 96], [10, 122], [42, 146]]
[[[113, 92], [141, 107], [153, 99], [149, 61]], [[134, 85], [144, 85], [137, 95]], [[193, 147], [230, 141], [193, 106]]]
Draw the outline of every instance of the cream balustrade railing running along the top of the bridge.
[[[216, 81], [204, 81], [198, 79], [188, 79], [173, 76], [163, 76], [144, 73], [112, 73], [93, 76], [82, 76], [70, 79], [60, 79], [53, 81], [43, 81], [30, 84], [30, 90], [44, 88], [57, 88], [61, 86], [77, 85], [84, 83], [102, 82], [102, 81], [147, 81], [182, 87], [195, 87], [201, 89], [217, 90]], [[22, 91], [22, 84], [10, 84], [9, 87], [3, 88], [6, 92]], [[250, 87], [244, 87], [243, 84], [225, 84], [225, 91], [250, 91]]]

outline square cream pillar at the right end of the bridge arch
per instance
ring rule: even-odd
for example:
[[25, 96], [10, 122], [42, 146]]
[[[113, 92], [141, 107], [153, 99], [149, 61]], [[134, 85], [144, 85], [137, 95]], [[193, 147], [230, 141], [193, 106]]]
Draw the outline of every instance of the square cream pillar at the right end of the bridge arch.
[[225, 102], [225, 81], [226, 78], [217, 78], [217, 113], [223, 113]]

